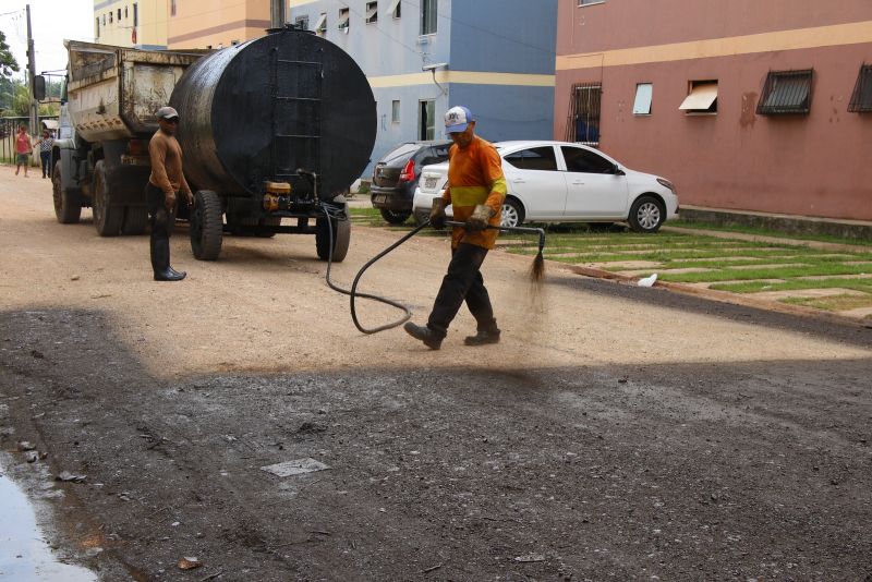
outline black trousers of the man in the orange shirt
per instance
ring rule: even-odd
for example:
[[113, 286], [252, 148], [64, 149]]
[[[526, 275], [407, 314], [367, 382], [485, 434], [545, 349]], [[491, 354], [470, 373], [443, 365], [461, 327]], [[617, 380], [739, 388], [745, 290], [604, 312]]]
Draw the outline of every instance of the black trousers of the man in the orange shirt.
[[496, 330], [494, 308], [491, 306], [491, 296], [484, 287], [480, 270], [486, 256], [487, 248], [475, 244], [460, 243], [451, 252], [448, 272], [443, 278], [443, 284], [427, 320], [428, 328], [445, 337], [448, 334], [448, 326], [465, 301], [480, 331]]

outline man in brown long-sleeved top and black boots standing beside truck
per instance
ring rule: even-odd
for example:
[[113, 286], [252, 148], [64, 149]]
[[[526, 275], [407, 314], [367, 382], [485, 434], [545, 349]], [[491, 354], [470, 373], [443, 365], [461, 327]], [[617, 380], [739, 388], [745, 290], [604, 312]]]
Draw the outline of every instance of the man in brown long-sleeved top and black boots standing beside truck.
[[152, 175], [145, 186], [152, 225], [152, 268], [156, 281], [181, 281], [187, 274], [170, 267], [172, 219], [178, 195], [182, 194], [189, 206], [193, 204], [194, 195], [182, 173], [182, 147], [175, 140], [179, 113], [172, 107], [161, 107], [157, 120], [160, 129], [148, 142]]

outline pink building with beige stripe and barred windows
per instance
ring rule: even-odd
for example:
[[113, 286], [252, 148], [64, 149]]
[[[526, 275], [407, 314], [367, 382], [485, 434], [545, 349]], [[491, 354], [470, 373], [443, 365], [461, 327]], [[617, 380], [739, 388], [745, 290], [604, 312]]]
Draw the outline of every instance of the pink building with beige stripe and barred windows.
[[556, 137], [682, 205], [872, 220], [869, 0], [566, 0], [557, 22]]

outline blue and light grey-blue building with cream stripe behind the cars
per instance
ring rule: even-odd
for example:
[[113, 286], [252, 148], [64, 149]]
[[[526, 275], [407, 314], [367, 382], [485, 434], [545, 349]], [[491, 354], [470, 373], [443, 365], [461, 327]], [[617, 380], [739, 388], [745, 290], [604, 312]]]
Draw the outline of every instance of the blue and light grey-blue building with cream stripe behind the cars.
[[[425, 36], [420, 34], [421, 0], [401, 0], [399, 19], [387, 12], [390, 0], [378, 0], [378, 19], [368, 24], [366, 4], [290, 0], [288, 12], [292, 23], [306, 16], [310, 29], [326, 13], [325, 37], [370, 78], [378, 131], [364, 178], [395, 145], [420, 137], [422, 100], [435, 101], [436, 138], [445, 137], [443, 114], [453, 105], [473, 111], [487, 140], [552, 137], [557, 0], [437, 0], [437, 31]], [[349, 9], [348, 32], [337, 27], [342, 8]], [[447, 66], [437, 69], [434, 82], [422, 68], [440, 63]], [[398, 122], [391, 119], [395, 100], [400, 101]]]

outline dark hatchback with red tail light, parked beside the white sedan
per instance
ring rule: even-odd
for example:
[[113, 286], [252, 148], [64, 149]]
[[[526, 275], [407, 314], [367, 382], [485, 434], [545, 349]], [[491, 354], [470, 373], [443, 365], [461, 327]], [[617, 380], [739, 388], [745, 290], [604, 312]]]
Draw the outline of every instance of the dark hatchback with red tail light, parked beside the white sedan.
[[448, 159], [450, 140], [405, 142], [378, 160], [370, 189], [373, 208], [391, 225], [401, 225], [412, 216], [412, 201], [421, 169]]

